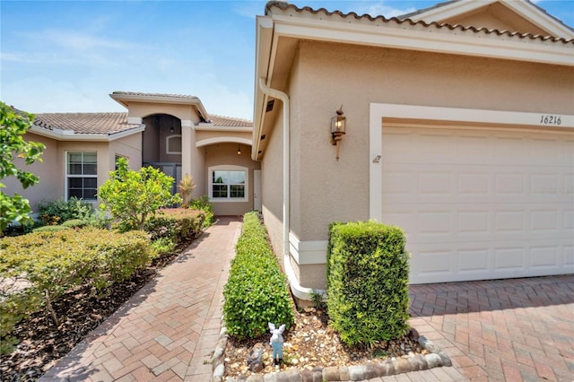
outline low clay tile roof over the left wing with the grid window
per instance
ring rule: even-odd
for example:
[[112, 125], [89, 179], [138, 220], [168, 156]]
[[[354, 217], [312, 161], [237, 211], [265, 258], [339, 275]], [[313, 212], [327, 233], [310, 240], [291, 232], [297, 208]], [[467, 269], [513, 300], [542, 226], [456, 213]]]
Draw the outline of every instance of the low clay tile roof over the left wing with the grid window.
[[128, 124], [127, 113], [42, 113], [34, 125], [48, 130], [73, 130], [76, 134], [109, 135], [140, 125]]

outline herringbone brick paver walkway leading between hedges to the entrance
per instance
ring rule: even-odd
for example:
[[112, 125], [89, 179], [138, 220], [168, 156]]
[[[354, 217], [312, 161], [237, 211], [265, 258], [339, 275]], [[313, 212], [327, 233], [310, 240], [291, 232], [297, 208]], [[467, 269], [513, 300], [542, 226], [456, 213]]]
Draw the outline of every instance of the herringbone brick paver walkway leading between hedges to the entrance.
[[41, 381], [209, 381], [241, 222], [222, 218]]

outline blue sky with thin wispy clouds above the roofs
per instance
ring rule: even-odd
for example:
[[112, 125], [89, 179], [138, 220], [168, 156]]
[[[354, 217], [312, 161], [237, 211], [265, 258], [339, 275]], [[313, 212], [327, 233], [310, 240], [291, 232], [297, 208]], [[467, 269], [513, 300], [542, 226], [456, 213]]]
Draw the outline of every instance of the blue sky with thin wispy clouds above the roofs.
[[[439, 1], [291, 3], [392, 17]], [[574, 25], [574, 0], [535, 3]], [[125, 111], [109, 93], [190, 94], [211, 114], [252, 119], [264, 10], [240, 0], [0, 0], [0, 100], [34, 113]]]

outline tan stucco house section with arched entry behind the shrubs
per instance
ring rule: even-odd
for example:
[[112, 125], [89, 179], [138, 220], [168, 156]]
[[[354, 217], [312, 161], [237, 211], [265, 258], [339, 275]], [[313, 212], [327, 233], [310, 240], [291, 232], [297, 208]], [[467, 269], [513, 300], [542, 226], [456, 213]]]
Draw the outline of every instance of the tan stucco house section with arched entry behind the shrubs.
[[209, 195], [214, 213], [260, 209], [260, 164], [252, 161], [251, 121], [210, 115], [194, 96], [114, 91], [124, 113], [48, 113], [34, 120], [26, 140], [46, 145], [43, 162], [27, 166], [40, 182], [22, 190], [6, 178], [8, 192], [30, 200], [71, 196], [97, 202], [96, 192], [118, 157], [130, 168], [153, 166], [176, 179], [194, 177], [194, 197]]

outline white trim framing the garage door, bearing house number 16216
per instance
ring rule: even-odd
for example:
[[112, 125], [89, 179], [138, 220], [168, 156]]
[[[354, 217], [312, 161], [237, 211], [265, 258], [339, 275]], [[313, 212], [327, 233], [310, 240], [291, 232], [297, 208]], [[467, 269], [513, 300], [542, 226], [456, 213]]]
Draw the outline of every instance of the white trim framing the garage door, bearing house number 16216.
[[[560, 118], [560, 125], [556, 122]], [[500, 111], [488, 109], [438, 108], [417, 105], [396, 105], [391, 103], [370, 103], [369, 139], [370, 139], [370, 186], [369, 214], [370, 219], [380, 221], [382, 218], [382, 181], [380, 163], [375, 161], [382, 155], [382, 128], [385, 118], [420, 119], [432, 121], [471, 123], [481, 126], [492, 124], [500, 127], [528, 126], [537, 131], [551, 132], [555, 128], [574, 128], [574, 115], [557, 115], [553, 113], [526, 113], [517, 111]], [[552, 130], [549, 130], [551, 129]]]

